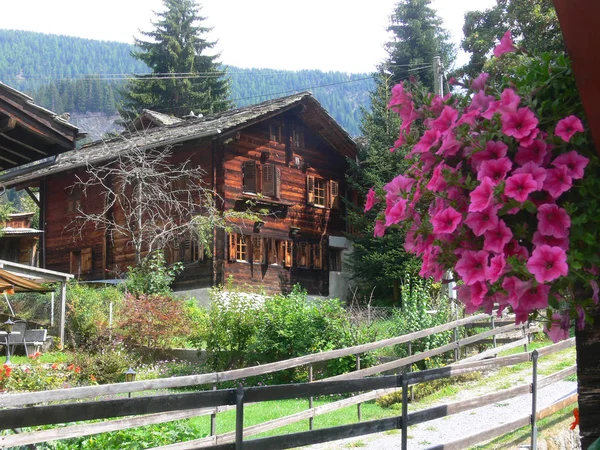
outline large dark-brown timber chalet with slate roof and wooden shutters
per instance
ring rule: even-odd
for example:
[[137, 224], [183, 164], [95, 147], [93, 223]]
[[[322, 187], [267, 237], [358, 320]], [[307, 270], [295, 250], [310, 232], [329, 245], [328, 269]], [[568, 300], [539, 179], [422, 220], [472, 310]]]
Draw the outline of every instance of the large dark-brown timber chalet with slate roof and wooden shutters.
[[309, 294], [330, 294], [347, 247], [341, 198], [347, 194], [347, 158], [356, 158], [357, 147], [310, 93], [170, 123], [145, 111], [138, 125], [143, 133], [88, 144], [10, 181], [47, 192], [44, 267], [99, 280], [133, 266], [132, 246], [106, 230], [90, 228], [82, 238], [65, 231], [76, 215], [74, 205], [93, 212], [102, 201], [101, 192], [85, 197], [73, 189], [76, 177], [87, 164], [110, 162], [132, 145], [174, 146], [175, 162], [190, 160], [205, 169], [220, 207], [243, 210], [252, 200], [269, 211], [262, 221], [239, 222], [239, 232], [215, 230], [210, 258], [191, 238], [166, 248], [169, 262], [185, 267], [176, 289], [207, 288], [233, 277], [238, 286], [266, 292], [287, 292], [299, 283]]

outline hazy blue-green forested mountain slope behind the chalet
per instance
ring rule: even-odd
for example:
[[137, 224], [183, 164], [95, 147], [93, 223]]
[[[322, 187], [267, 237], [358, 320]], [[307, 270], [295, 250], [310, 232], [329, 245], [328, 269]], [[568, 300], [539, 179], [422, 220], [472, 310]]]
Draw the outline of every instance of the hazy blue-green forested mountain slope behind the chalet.
[[[112, 116], [126, 77], [148, 72], [131, 57], [132, 49], [118, 42], [0, 30], [0, 81], [58, 113]], [[236, 106], [310, 90], [353, 136], [359, 134], [360, 107], [368, 106], [368, 91], [373, 87], [368, 74], [233, 66], [228, 73]]]

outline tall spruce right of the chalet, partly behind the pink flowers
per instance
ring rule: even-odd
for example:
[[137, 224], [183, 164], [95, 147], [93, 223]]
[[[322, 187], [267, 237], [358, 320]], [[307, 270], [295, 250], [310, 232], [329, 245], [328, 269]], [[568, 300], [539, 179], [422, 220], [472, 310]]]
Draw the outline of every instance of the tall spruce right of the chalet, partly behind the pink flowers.
[[[433, 91], [433, 57], [441, 56], [446, 67], [453, 61], [454, 47], [449, 34], [441, 28], [441, 19], [430, 3], [430, 0], [400, 0], [391, 16], [388, 30], [393, 37], [386, 44], [388, 57], [374, 75], [371, 108], [363, 111], [359, 162], [350, 162], [347, 176], [352, 189], [362, 198], [371, 187], [381, 187], [408, 168], [405, 149], [390, 152], [400, 127], [398, 115], [387, 109], [392, 87], [414, 76]], [[421, 65], [427, 67], [419, 69]], [[364, 288], [363, 294], [376, 287], [376, 298], [389, 299], [398, 305], [402, 278], [418, 272], [416, 259], [404, 251], [404, 234], [388, 229], [383, 238], [374, 238], [375, 211], [365, 214], [361, 208], [350, 205], [348, 216], [357, 230], [350, 237], [354, 251], [349, 260], [355, 281]]]

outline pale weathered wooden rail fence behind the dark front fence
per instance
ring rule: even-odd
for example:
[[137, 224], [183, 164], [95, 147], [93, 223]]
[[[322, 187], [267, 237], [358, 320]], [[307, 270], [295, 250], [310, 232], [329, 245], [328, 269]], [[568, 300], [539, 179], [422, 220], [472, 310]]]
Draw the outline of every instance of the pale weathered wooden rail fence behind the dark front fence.
[[[267, 430], [279, 428], [289, 423], [295, 423], [300, 420], [309, 419], [309, 429], [312, 434], [311, 439], [323, 435], [323, 430], [312, 431], [312, 418], [330, 412], [339, 408], [343, 408], [349, 405], [358, 405], [357, 413], [360, 421], [360, 403], [375, 399], [386, 393], [393, 392], [401, 387], [401, 378], [397, 375], [383, 376], [377, 378], [364, 378], [370, 375], [379, 374], [389, 370], [399, 370], [403, 367], [409, 367], [420, 360], [429, 358], [435, 355], [440, 355], [448, 351], [458, 350], [463, 346], [478, 342], [483, 339], [487, 339], [496, 336], [507, 331], [514, 331], [520, 329], [523, 332], [524, 338], [510, 344], [511, 346], [526, 345], [527, 330], [523, 326], [515, 326], [514, 324], [504, 325], [499, 328], [495, 328], [492, 324], [492, 329], [483, 333], [479, 333], [475, 336], [470, 336], [465, 339], [457, 339], [456, 341], [417, 355], [410, 355], [406, 358], [400, 358], [385, 364], [370, 367], [367, 369], [360, 369], [360, 355], [361, 353], [372, 351], [379, 348], [384, 348], [390, 345], [397, 345], [401, 343], [409, 344], [423, 337], [430, 336], [432, 334], [449, 331], [458, 327], [464, 327], [481, 320], [489, 320], [489, 316], [480, 314], [477, 316], [461, 319], [448, 324], [440, 325], [428, 330], [422, 330], [419, 332], [411, 333], [396, 338], [386, 339], [370, 344], [363, 344], [345, 349], [333, 350], [313, 355], [306, 355], [299, 358], [293, 358], [286, 361], [280, 361], [271, 364], [265, 364], [263, 366], [249, 367], [246, 369], [238, 369], [229, 372], [218, 372], [210, 374], [192, 375], [186, 377], [176, 377], [169, 379], [159, 380], [147, 380], [137, 381], [132, 383], [121, 383], [104, 386], [89, 386], [72, 389], [61, 389], [55, 391], [44, 391], [36, 393], [25, 393], [25, 394], [5, 394], [0, 396], [0, 407], [10, 408], [0, 410], [0, 429], [15, 429], [19, 430], [22, 427], [36, 426], [36, 425], [47, 425], [47, 424], [58, 424], [68, 423], [74, 421], [86, 421], [93, 419], [107, 419], [125, 416], [138, 416], [128, 417], [124, 419], [111, 420], [103, 423], [94, 423], [90, 425], [71, 425], [61, 427], [57, 429], [35, 431], [20, 433], [15, 435], [8, 435], [0, 437], [0, 446], [11, 447], [17, 445], [28, 445], [39, 442], [46, 442], [56, 439], [65, 439], [72, 437], [85, 436], [90, 434], [97, 434], [108, 431], [116, 431], [126, 428], [132, 428], [137, 426], [150, 425], [161, 422], [168, 422], [173, 420], [180, 420], [189, 417], [195, 417], [200, 415], [211, 415], [211, 436], [203, 438], [198, 441], [194, 441], [192, 444], [175, 444], [175, 446], [169, 448], [201, 448], [205, 446], [229, 445], [228, 443], [234, 442], [236, 439], [235, 433], [227, 433], [225, 435], [215, 435], [215, 421], [216, 414], [218, 412], [236, 408], [238, 409], [238, 415], [243, 409], [243, 404], [256, 401], [276, 400], [283, 398], [295, 398], [306, 396], [309, 398], [309, 409], [307, 411], [270, 421], [267, 423], [255, 425], [244, 430], [246, 436], [262, 433]], [[506, 346], [505, 346], [506, 347]], [[552, 347], [558, 348], [558, 347]], [[423, 377], [431, 376], [432, 379], [442, 378], [446, 376], [456, 375], [458, 373], [464, 373], [464, 371], [474, 370], [486, 370], [486, 368], [501, 367], [506, 361], [523, 362], [528, 360], [528, 354], [516, 355], [514, 357], [499, 358], [491, 362], [473, 362], [473, 359], [479, 359], [487, 356], [491, 356], [493, 353], [498, 353], [500, 349], [490, 349], [481, 355], [468, 358], [468, 360], [461, 361], [460, 365], [452, 365], [444, 367], [442, 369], [433, 369], [432, 371], [423, 371], [416, 373], [405, 374], [409, 381], [409, 385], [413, 385], [418, 382], [428, 381]], [[318, 362], [327, 361], [334, 358], [340, 358], [342, 356], [355, 355], [357, 357], [357, 370], [349, 374], [339, 375], [332, 377], [327, 380], [318, 380], [318, 382], [312, 382], [312, 365]], [[460, 352], [455, 352], [455, 355], [460, 355]], [[464, 363], [463, 363], [464, 362]], [[515, 364], [517, 362], [514, 362]], [[506, 364], [508, 364], [506, 363]], [[456, 364], [456, 362], [455, 362]], [[500, 364], [500, 365], [498, 365]], [[505, 364], [505, 365], [506, 365]], [[261, 375], [266, 373], [272, 373], [279, 370], [285, 370], [293, 367], [307, 365], [309, 367], [309, 383], [296, 384], [296, 385], [284, 385], [284, 386], [270, 386], [267, 388], [246, 388], [241, 392], [236, 390], [216, 390], [217, 383], [223, 381], [238, 380], [249, 376]], [[565, 375], [567, 376], [567, 375]], [[437, 378], [436, 378], [437, 377]], [[131, 399], [115, 399], [115, 394], [123, 394], [127, 392], [139, 392], [144, 390], [156, 390], [165, 388], [174, 388], [191, 385], [212, 385], [212, 391], [197, 392], [192, 394], [170, 394], [170, 395], [158, 395], [158, 396], [146, 396], [146, 397], [134, 397]], [[408, 387], [408, 385], [407, 385]], [[340, 394], [348, 392], [364, 392], [366, 393], [340, 400], [332, 404], [319, 406], [317, 408], [312, 407], [312, 397], [315, 395], [325, 394]], [[408, 393], [408, 391], [406, 391]], [[259, 394], [263, 393], [263, 394]], [[265, 394], [267, 393], [267, 394]], [[241, 397], [240, 400], [240, 395]], [[265, 396], [266, 395], [266, 396]], [[106, 399], [106, 398], [109, 399]], [[48, 405], [48, 402], [60, 402], [60, 401], [72, 401], [80, 400], [85, 398], [94, 398], [95, 401], [88, 401], [83, 403], [67, 403], [60, 405]], [[41, 404], [41, 405], [40, 405]], [[46, 404], [46, 405], [44, 405]], [[39, 405], [39, 406], [29, 406]], [[414, 414], [414, 413], [413, 413]], [[386, 422], [387, 420], [387, 422]], [[360, 430], [375, 430], [370, 432], [376, 432], [381, 426], [389, 426], [393, 421], [386, 419], [382, 424], [371, 424], [364, 425], [358, 424], [356, 426], [362, 426]], [[408, 420], [408, 419], [407, 419]], [[431, 420], [431, 419], [428, 419]], [[394, 422], [396, 425], [401, 422]], [[369, 428], [372, 427], [372, 428]], [[337, 436], [338, 433], [342, 433], [343, 430], [350, 430], [349, 432], [354, 433], [356, 428], [350, 426], [344, 428], [336, 427], [333, 430], [332, 436]], [[393, 428], [396, 428], [395, 426]], [[389, 428], [385, 428], [389, 429]], [[239, 433], [239, 430], [238, 430]], [[363, 433], [364, 434], [364, 433]], [[336, 438], [337, 439], [337, 438]], [[331, 439], [326, 439], [331, 440]], [[240, 441], [241, 442], [241, 441]], [[253, 441], [254, 442], [254, 441]], [[177, 446], [180, 445], [180, 446]], [[192, 445], [193, 447], [190, 447]], [[244, 443], [244, 448], [246, 447]], [[273, 442], [276, 445], [276, 442]], [[277, 444], [278, 445], [278, 444]], [[223, 447], [229, 448], [229, 447]], [[233, 447], [231, 447], [233, 448]], [[271, 444], [267, 445], [266, 448], [287, 448], [287, 447], [275, 447]]]

